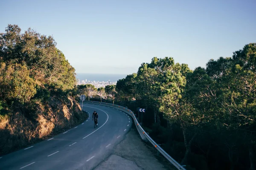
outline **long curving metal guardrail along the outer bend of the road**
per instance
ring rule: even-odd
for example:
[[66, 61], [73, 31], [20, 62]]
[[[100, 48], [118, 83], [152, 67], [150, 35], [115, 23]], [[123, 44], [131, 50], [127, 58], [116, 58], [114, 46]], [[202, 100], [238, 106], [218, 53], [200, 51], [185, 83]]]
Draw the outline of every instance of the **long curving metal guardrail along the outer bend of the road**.
[[105, 103], [105, 102], [95, 102], [95, 101], [84, 101], [85, 103], [92, 103], [96, 105], [108, 105], [112, 108], [118, 108], [119, 110], [125, 111], [125, 113], [128, 113], [133, 119], [134, 123], [137, 127], [138, 132], [140, 133], [140, 136], [143, 140], [148, 140], [153, 146], [169, 161], [171, 162], [178, 170], [186, 170], [183, 166], [181, 166], [175, 159], [173, 159], [171, 156], [169, 156], [166, 151], [164, 151], [154, 140], [145, 132], [145, 130], [140, 126], [140, 123], [137, 121], [134, 113], [129, 110], [128, 108], [125, 108], [123, 106], [114, 105], [111, 103]]

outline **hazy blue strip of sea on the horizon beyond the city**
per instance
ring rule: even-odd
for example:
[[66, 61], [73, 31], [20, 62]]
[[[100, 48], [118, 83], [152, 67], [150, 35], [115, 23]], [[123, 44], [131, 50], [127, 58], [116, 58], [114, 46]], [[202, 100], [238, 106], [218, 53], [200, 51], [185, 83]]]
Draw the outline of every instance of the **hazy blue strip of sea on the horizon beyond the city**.
[[82, 80], [87, 81], [99, 81], [99, 82], [116, 82], [119, 79], [123, 79], [127, 76], [127, 74], [91, 74], [91, 73], [76, 73], [76, 79], [79, 79], [80, 82]]

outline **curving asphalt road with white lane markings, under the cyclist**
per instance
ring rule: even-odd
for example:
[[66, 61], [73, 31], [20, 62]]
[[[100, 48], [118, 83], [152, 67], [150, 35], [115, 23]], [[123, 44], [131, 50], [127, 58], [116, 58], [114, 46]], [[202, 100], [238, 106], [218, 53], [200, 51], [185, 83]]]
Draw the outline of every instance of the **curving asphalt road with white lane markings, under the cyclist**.
[[[131, 117], [115, 108], [84, 104], [81, 125], [43, 142], [0, 157], [0, 170], [89, 170], [104, 161], [131, 129]], [[99, 114], [94, 129], [92, 113]]]

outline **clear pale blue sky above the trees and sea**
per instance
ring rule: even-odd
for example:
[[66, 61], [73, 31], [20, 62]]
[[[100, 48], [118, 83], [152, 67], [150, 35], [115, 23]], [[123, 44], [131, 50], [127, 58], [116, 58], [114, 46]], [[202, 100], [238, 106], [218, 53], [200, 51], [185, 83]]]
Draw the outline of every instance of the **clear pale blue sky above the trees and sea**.
[[256, 0], [1, 0], [8, 24], [52, 35], [77, 73], [131, 74], [152, 57], [189, 68], [256, 42]]

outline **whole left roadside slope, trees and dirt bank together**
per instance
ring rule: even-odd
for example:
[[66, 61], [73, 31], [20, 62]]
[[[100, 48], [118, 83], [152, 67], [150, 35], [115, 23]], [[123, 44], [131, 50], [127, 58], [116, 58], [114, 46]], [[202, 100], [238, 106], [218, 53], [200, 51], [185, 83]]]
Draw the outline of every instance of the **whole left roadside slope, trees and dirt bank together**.
[[8, 25], [0, 33], [0, 155], [81, 122], [75, 85], [53, 37]]

